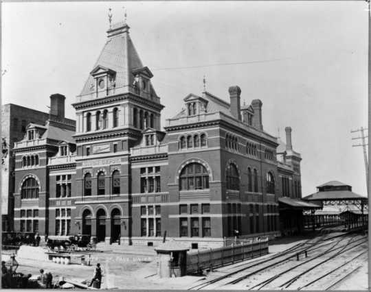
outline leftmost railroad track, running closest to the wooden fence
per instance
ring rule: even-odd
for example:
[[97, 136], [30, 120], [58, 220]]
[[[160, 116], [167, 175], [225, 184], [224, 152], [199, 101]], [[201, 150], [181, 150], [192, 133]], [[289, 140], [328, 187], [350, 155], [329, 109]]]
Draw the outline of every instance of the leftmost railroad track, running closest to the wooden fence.
[[[241, 264], [241, 265], [238, 265], [238, 266], [234, 266], [232, 268], [232, 269], [234, 269], [233, 271], [231, 271], [229, 273], [225, 273], [224, 275], [218, 276], [218, 277], [216, 277], [212, 280], [208, 280], [206, 282], [203, 282], [203, 283], [197, 284], [193, 287], [190, 287], [189, 290], [203, 289], [203, 288], [208, 287], [208, 286], [210, 286], [214, 283], [221, 282], [222, 280], [225, 280], [226, 278], [234, 276], [237, 273], [243, 273], [247, 269], [258, 267], [259, 265], [267, 263], [267, 266], [262, 267], [262, 268], [258, 268], [258, 270], [256, 270], [254, 272], [254, 273], [258, 273], [259, 271], [262, 271], [262, 270], [267, 269], [269, 267], [273, 267], [275, 265], [283, 264], [283, 263], [291, 260], [291, 258], [295, 257], [296, 254], [298, 254], [298, 253], [308, 252], [308, 251], [314, 250], [315, 248], [318, 248], [319, 246], [326, 246], [326, 245], [330, 244], [330, 243], [324, 243], [325, 241], [330, 241], [330, 240], [333, 240], [337, 237], [347, 236], [349, 233], [351, 233], [351, 232], [347, 232], [345, 234], [339, 234], [337, 236], [328, 237], [327, 236], [328, 232], [331, 231], [331, 230], [332, 230], [332, 228], [331, 229], [323, 228], [323, 230], [321, 230], [321, 232], [320, 232], [320, 236], [315, 238], [314, 240], [313, 239], [308, 239], [304, 243], [299, 243], [297, 245], [294, 245], [293, 247], [289, 248], [288, 250], [284, 250], [283, 252], [280, 252], [276, 255], [273, 255], [269, 258], [265, 258], [263, 260], [255, 260], [254, 262], [249, 262], [249, 263], [244, 263], [244, 264]], [[319, 242], [322, 242], [322, 244], [318, 245]], [[276, 261], [274, 261], [272, 263], [273, 260], [276, 260]], [[271, 263], [269, 263], [269, 262], [271, 262]], [[251, 273], [249, 273], [248, 276], [251, 276]], [[243, 280], [242, 278], [247, 278], [248, 276], [242, 276], [242, 277], [239, 277], [239, 278], [241, 278], [241, 280]]]

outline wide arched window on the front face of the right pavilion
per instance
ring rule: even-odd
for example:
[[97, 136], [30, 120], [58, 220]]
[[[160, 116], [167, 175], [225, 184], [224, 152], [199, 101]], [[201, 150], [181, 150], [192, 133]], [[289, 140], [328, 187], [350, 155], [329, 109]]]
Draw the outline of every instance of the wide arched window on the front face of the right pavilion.
[[181, 170], [179, 190], [201, 190], [209, 188], [209, 173], [201, 163], [193, 162]]

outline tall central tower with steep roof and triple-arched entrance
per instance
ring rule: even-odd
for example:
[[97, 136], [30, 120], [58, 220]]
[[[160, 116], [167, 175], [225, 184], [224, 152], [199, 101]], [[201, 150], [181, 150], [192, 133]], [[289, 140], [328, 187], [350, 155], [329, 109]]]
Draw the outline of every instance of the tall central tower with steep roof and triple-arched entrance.
[[[130, 149], [159, 131], [160, 104], [126, 22], [113, 24], [76, 109], [76, 221], [98, 241], [131, 241]], [[103, 227], [100, 232], [100, 226]]]

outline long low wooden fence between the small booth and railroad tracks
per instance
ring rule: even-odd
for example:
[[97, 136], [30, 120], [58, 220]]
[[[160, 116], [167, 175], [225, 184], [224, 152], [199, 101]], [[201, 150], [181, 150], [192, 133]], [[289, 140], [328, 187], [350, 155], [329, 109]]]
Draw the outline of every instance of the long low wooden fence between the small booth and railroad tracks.
[[268, 253], [268, 238], [187, 254], [187, 273], [223, 267]]

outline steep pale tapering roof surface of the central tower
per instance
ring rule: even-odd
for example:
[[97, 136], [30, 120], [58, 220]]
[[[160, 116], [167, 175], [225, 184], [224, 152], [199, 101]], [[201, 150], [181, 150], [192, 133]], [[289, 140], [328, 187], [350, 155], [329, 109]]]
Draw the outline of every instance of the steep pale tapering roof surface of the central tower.
[[[126, 23], [116, 23], [109, 29], [109, 39], [106, 41], [92, 71], [94, 72], [98, 68], [114, 71], [116, 74], [115, 94], [135, 93], [132, 87], [135, 77], [133, 72], [138, 69], [146, 70], [128, 34], [128, 29]], [[80, 95], [92, 95], [94, 97], [95, 91], [91, 90], [91, 84], [95, 84], [95, 80], [93, 75], [89, 74]]]

